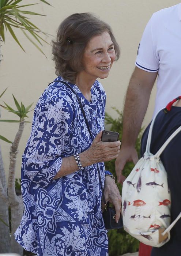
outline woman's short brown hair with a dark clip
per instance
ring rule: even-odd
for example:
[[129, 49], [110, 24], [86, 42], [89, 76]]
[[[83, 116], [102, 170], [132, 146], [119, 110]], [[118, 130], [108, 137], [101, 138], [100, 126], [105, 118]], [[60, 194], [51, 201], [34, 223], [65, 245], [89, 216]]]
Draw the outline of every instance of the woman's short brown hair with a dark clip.
[[84, 70], [82, 57], [87, 43], [105, 31], [108, 31], [112, 39], [118, 60], [120, 49], [107, 23], [87, 12], [72, 14], [64, 19], [57, 31], [56, 40], [52, 41], [56, 75], [75, 83], [77, 73]]

